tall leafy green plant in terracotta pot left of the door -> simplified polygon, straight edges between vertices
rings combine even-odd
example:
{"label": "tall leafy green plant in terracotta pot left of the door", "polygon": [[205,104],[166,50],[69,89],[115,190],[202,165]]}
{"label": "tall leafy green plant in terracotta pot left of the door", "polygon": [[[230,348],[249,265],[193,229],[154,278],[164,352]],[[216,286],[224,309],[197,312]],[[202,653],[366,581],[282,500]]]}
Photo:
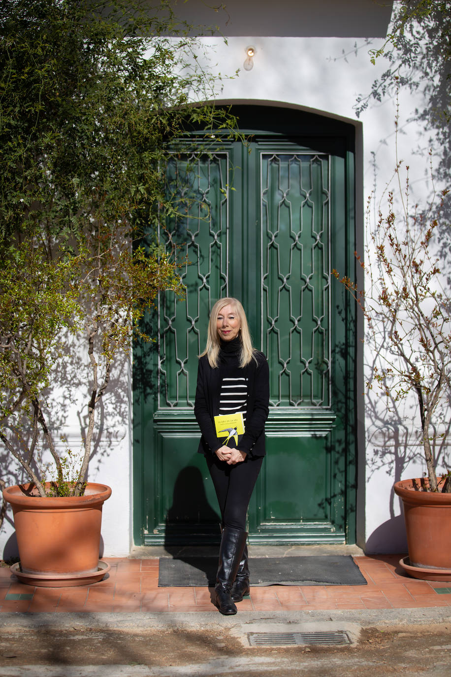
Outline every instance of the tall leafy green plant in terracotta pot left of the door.
{"label": "tall leafy green plant in terracotta pot left of the door", "polygon": [[[176,211],[166,148],[191,122],[231,121],[188,103],[193,91],[211,97],[212,79],[185,68],[195,43],[165,0],[11,0],[0,22],[0,439],[28,477],[3,491],[18,536],[13,571],[34,585],[79,585],[106,571],[111,489],[87,482],[99,403],[133,332],[151,340],[138,326],[158,292],[183,294],[176,253],[156,238]],[[62,400],[80,387],[74,466],[55,437]]]}

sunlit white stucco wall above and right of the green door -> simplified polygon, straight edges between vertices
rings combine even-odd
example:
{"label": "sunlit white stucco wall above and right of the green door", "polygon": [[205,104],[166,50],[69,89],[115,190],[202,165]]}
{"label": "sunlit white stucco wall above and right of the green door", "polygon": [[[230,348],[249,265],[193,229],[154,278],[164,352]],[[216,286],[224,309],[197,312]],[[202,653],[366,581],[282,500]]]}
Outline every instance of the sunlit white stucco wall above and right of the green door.
{"label": "sunlit white stucco wall above and right of the green door", "polygon": [[[373,39],[369,44],[362,38],[247,36],[229,37],[227,42],[225,45],[219,39],[204,39],[211,45],[211,58],[221,73],[240,69],[234,79],[224,79],[220,93],[224,100],[285,102],[349,121],[359,119],[363,148],[357,152],[362,153],[363,194],[358,198],[362,205],[366,204],[374,191],[374,204],[379,204],[396,167],[396,101],[375,102],[360,118],[356,118],[354,104],[357,95],[368,92],[373,80],[386,68],[383,60],[373,66],[369,57],[369,49],[379,47],[383,41]],[[256,50],[254,66],[244,70],[245,49],[250,45]],[[421,200],[430,190],[428,149],[421,127],[408,122],[420,102],[401,91],[399,103],[398,159],[410,166],[412,198]],[[419,150],[425,154],[419,154]],[[358,216],[358,224],[363,235],[363,213]],[[371,345],[365,345],[364,380],[371,376],[372,362]],[[365,437],[360,440],[359,450],[358,544],[367,552],[403,552],[404,522],[392,487],[395,479],[418,477],[425,469],[414,433],[419,427],[416,401],[405,403],[404,416],[397,422],[396,416],[384,411],[385,404],[375,391],[368,397],[372,399],[362,402]]]}

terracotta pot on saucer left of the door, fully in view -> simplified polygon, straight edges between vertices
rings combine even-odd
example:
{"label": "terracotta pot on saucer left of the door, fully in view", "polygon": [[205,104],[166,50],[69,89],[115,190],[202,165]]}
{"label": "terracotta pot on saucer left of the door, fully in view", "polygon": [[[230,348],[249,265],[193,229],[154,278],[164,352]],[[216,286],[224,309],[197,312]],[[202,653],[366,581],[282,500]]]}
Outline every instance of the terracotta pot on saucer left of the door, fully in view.
{"label": "terracotta pot on saucer left of the door, fully in view", "polygon": [[99,563],[101,513],[110,487],[88,483],[84,496],[41,498],[33,484],[3,491],[11,504],[20,565],[11,570],[37,586],[86,585],[100,580],[108,565]]}

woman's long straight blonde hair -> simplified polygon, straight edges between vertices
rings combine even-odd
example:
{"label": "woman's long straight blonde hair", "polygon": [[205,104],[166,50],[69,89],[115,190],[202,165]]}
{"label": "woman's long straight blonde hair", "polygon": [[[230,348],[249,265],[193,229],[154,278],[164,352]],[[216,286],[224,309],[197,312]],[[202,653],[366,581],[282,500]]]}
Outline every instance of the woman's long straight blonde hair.
{"label": "woman's long straight blonde hair", "polygon": [[239,341],[241,343],[239,366],[241,368],[245,367],[247,364],[250,363],[253,357],[257,362],[256,358],[257,351],[252,347],[251,334],[249,331],[249,326],[247,325],[246,313],[244,312],[244,308],[238,301],[238,299],[226,297],[225,299],[219,299],[219,301],[216,301],[216,303],[212,307],[212,310],[210,312],[210,321],[208,322],[206,349],[204,350],[203,353],[199,355],[199,357],[207,355],[210,367],[212,367],[213,369],[219,366],[218,357],[220,351],[220,339],[218,336],[218,330],[216,328],[216,321],[218,320],[220,310],[222,310],[222,308],[224,308],[224,306],[226,305],[231,305],[233,311],[235,311],[235,313],[238,316],[239,324],[241,326],[238,334]]}

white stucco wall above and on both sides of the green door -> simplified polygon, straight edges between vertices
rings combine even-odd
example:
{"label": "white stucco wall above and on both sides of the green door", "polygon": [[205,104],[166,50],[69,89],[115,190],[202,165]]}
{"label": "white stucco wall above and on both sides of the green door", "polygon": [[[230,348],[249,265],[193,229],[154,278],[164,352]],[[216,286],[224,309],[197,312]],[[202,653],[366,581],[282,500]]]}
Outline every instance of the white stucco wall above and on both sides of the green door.
{"label": "white stucco wall above and on both sides of the green door", "polygon": [[[385,64],[373,66],[369,59],[369,45],[362,38],[335,37],[230,37],[228,44],[222,39],[203,39],[216,70],[224,75],[239,74],[222,81],[219,98],[246,102],[280,102],[302,106],[333,116],[356,121],[354,103],[359,93],[369,91],[371,82]],[[245,48],[256,49],[254,67],[244,70]],[[373,41],[371,47],[381,45]],[[421,129],[408,118],[417,102],[410,95],[400,95],[400,148],[399,156],[410,165],[410,179],[414,192],[421,196],[428,190],[425,180],[426,163],[415,154],[421,144]],[[394,147],[395,102],[385,100],[370,106],[360,121],[363,125],[363,194],[362,204],[375,190],[377,198],[391,178],[396,165]],[[377,200],[376,200],[377,201]],[[364,227],[360,214],[360,227]],[[370,347],[364,349],[364,364],[371,364]],[[116,374],[114,387],[105,401],[110,415],[105,418],[105,441],[91,463],[90,479],[113,487],[113,495],[103,508],[103,552],[105,556],[126,556],[131,544],[131,389],[128,365]],[[369,370],[366,367],[366,376]],[[373,395],[375,397],[375,395]],[[120,403],[120,406],[117,406]],[[369,401],[371,403],[371,401]],[[400,506],[392,493],[394,479],[400,476],[421,475],[419,460],[410,461],[417,450],[411,437],[412,403],[406,404],[402,424],[387,424],[375,420],[371,407],[364,414],[365,438],[359,452],[358,487],[358,542],[368,552],[400,552],[406,550],[404,525]],[[79,435],[78,414],[72,414],[73,424],[68,436]],[[401,441],[396,446],[396,431]],[[404,436],[404,437],[403,437]],[[404,446],[403,446],[404,445]],[[381,454],[381,449],[385,451]],[[406,458],[404,459],[404,452]],[[8,479],[9,478],[5,478]],[[14,552],[11,518],[8,514],[0,534],[0,553]]]}

